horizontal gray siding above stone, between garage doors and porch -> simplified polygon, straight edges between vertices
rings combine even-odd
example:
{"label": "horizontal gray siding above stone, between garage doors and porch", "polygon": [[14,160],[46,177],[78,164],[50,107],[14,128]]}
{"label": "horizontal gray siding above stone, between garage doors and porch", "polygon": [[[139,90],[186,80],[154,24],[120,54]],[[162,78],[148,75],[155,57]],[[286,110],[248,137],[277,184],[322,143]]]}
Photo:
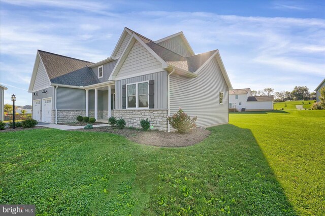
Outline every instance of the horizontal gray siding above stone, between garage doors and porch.
{"label": "horizontal gray siding above stone, between garage doors and porch", "polygon": [[86,91],[84,89],[58,87],[56,107],[57,110],[85,110]]}

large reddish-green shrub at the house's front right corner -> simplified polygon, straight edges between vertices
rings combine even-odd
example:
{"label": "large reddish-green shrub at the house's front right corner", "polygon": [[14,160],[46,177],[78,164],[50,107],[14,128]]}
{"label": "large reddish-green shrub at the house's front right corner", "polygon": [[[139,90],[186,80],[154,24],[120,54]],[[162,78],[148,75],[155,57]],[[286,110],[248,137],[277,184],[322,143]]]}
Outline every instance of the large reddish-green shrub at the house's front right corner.
{"label": "large reddish-green shrub at the house's front right corner", "polygon": [[172,117],[167,117],[167,120],[179,133],[186,133],[197,126],[195,124],[197,118],[198,117],[193,117],[191,119],[184,111],[179,109]]}

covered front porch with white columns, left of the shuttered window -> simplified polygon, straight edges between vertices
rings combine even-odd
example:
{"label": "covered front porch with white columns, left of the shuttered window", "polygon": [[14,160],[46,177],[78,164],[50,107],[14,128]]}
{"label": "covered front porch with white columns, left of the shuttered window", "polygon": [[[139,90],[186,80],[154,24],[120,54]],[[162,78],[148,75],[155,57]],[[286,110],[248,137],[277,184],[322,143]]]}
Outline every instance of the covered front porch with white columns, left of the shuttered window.
{"label": "covered front porch with white columns, left of the shuttered window", "polygon": [[115,84],[86,89],[86,116],[107,123],[114,115]]}

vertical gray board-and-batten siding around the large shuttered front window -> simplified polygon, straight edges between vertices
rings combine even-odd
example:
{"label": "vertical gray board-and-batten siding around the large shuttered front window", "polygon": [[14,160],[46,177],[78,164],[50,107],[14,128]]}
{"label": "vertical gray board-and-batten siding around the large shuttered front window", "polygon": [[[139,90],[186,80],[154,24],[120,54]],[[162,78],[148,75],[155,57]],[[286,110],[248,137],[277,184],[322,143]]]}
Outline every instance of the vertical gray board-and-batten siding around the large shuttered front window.
{"label": "vertical gray board-and-batten siding around the large shuttered front window", "polygon": [[116,109],[122,109],[122,85],[154,80],[154,109],[167,109],[166,70],[115,82]]}

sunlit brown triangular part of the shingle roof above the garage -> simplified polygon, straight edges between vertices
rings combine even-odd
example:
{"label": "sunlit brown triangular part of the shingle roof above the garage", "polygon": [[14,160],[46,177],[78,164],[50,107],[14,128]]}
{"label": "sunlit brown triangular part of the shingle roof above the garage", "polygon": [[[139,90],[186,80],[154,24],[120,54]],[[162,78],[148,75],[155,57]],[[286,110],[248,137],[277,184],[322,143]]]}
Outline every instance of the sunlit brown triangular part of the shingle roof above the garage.
{"label": "sunlit brown triangular part of the shingle roof above the garage", "polygon": [[92,62],[38,50],[50,80],[87,67]]}

